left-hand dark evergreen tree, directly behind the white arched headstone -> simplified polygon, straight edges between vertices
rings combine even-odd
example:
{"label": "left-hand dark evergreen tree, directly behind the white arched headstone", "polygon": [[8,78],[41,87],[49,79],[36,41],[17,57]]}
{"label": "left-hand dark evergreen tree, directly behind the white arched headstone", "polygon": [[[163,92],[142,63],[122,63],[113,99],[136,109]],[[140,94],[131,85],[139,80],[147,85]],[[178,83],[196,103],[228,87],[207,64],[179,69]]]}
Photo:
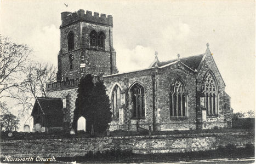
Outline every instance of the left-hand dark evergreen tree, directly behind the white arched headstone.
{"label": "left-hand dark evergreen tree, directly behind the white arched headstone", "polygon": [[92,125],[93,115],[93,97],[94,97],[94,84],[91,74],[80,79],[77,89],[76,108],[73,116],[73,128],[77,130],[77,120],[80,116],[86,119],[86,131],[89,132]]}

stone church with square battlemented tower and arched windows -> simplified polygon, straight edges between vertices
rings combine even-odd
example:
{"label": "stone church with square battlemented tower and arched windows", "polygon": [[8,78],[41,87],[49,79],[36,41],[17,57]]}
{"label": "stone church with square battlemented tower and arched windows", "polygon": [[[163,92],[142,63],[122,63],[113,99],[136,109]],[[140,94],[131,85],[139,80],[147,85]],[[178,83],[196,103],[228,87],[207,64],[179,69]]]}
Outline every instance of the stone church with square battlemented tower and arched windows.
{"label": "stone church with square battlemented tower and arched windows", "polygon": [[33,109],[37,113],[33,117],[39,120],[34,125],[64,128],[77,121],[73,120],[73,111],[79,78],[92,74],[94,80],[103,80],[110,98],[110,131],[149,126],[153,131],[231,127],[230,97],[208,43],[202,54],[178,54],[169,61],[159,61],[155,52],[148,68],[118,73],[112,33],[111,15],[82,9],[61,13],[57,81],[47,84],[47,97],[39,99],[44,103],[62,101],[59,106],[43,109],[54,110],[62,125],[42,122],[47,119],[40,119],[43,110],[39,106]]}

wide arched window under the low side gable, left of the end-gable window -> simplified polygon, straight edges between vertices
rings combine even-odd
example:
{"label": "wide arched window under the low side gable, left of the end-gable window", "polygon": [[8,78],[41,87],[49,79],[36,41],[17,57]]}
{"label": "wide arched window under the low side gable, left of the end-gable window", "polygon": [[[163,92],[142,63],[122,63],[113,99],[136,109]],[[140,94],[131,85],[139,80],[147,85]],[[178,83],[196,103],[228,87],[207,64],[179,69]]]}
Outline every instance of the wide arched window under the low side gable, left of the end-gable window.
{"label": "wide arched window under the low side gable, left of the end-gable window", "polygon": [[176,79],[170,86],[169,93],[170,117],[184,117],[187,115],[187,92],[184,84]]}

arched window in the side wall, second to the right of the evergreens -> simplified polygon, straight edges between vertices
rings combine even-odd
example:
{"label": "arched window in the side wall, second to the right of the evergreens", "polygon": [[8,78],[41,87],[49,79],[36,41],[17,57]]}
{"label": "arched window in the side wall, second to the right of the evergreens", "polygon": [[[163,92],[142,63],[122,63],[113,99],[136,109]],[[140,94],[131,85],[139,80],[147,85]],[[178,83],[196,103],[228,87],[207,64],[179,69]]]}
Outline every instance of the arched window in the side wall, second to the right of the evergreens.
{"label": "arched window in the side wall, second to the right of the evergreens", "polygon": [[133,107],[133,118],[145,118],[145,91],[144,87],[136,83],[130,89]]}

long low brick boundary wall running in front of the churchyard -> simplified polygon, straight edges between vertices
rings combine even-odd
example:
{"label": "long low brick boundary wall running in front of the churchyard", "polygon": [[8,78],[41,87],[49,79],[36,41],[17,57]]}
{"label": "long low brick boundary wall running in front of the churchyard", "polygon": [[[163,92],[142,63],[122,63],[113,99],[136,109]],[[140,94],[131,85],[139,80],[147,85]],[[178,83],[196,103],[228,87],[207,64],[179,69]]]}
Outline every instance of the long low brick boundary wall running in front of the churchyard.
{"label": "long low brick boundary wall running in front of the churchyard", "polygon": [[89,151],[132,150],[136,154],[181,153],[214,150],[227,144],[236,147],[254,145],[254,132],[172,134],[102,138],[66,138],[2,140],[0,157],[69,157],[83,156]]}

